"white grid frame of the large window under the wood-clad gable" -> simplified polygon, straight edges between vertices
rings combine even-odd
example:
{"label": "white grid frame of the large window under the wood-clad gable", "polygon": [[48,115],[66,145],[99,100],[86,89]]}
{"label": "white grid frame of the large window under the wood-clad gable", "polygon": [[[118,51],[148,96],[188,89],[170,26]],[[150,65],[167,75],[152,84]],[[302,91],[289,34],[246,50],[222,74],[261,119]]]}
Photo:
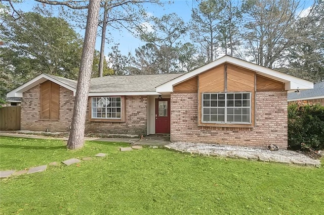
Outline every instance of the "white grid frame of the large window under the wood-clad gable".
{"label": "white grid frame of the large window under the wood-clad gable", "polygon": [[[243,98],[243,93],[248,94],[247,98]],[[228,98],[228,95],[233,94],[233,98]],[[240,98],[239,97],[240,94]],[[204,98],[206,95],[206,98]],[[209,98],[207,98],[209,95]],[[213,95],[213,98],[212,98]],[[224,95],[224,99],[219,99],[219,95]],[[235,95],[237,95],[237,99],[235,99]],[[252,124],[252,105],[251,105],[251,92],[215,92],[215,93],[201,93],[201,123],[209,123],[209,124]],[[206,101],[206,104],[204,104]],[[209,101],[209,102],[207,102]],[[233,103],[231,103],[231,101]],[[236,101],[236,104],[235,104]],[[213,102],[213,104],[212,104]],[[215,102],[217,102],[217,106],[215,106]],[[221,103],[219,103],[221,102]],[[209,106],[207,105],[209,103]],[[223,105],[224,106],[219,106]],[[240,103],[240,106],[238,104]],[[237,105],[237,106],[236,106]],[[213,113],[212,113],[213,109]],[[245,110],[245,111],[244,111]],[[219,111],[221,114],[218,114]],[[209,113],[208,113],[209,112]],[[236,113],[235,113],[236,112]],[[240,113],[239,113],[240,112]],[[223,114],[224,113],[224,114]],[[204,118],[206,116],[206,118]],[[209,116],[209,120],[206,120]],[[212,120],[212,116],[214,120]],[[219,117],[220,116],[220,117]],[[231,118],[231,116],[233,118]],[[241,121],[235,121],[241,118]],[[242,118],[244,116],[249,116],[249,122],[242,122]],[[215,120],[217,118],[217,120]],[[218,119],[224,120],[218,120]],[[232,121],[230,121],[232,119]]]}

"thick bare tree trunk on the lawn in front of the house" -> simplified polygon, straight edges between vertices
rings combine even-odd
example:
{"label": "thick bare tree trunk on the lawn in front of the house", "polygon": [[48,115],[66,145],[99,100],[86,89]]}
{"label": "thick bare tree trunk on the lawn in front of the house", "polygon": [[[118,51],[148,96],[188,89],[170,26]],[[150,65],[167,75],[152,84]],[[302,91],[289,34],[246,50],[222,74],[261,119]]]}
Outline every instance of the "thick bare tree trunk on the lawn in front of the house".
{"label": "thick bare tree trunk on the lawn in front of the house", "polygon": [[86,110],[98,28],[100,1],[90,0],[82,58],[77,80],[74,110],[67,148],[82,148],[85,138]]}

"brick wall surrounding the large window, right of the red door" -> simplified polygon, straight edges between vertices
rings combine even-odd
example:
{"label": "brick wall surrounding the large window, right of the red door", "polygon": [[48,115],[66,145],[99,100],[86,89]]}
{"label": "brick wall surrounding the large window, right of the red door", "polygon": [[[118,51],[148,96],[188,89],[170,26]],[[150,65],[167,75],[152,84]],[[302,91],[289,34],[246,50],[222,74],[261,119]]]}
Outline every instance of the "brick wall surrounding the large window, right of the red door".
{"label": "brick wall surrounding the large window, right of the red door", "polygon": [[171,94],[171,141],[287,148],[287,92],[256,92],[254,128],[197,126],[197,93]]}

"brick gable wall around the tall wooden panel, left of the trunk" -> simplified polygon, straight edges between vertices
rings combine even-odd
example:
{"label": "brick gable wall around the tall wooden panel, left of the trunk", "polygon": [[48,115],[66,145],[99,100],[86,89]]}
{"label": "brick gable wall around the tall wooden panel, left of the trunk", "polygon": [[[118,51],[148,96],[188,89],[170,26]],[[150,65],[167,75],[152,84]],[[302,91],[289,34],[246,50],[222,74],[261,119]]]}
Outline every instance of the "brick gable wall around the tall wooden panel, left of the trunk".
{"label": "brick gable wall around the tall wooden panel, left of the trunk", "polygon": [[34,86],[23,93],[21,101],[21,130],[30,131],[69,131],[73,115],[74,96],[73,92],[60,86],[59,120],[40,119],[39,100],[40,85]]}

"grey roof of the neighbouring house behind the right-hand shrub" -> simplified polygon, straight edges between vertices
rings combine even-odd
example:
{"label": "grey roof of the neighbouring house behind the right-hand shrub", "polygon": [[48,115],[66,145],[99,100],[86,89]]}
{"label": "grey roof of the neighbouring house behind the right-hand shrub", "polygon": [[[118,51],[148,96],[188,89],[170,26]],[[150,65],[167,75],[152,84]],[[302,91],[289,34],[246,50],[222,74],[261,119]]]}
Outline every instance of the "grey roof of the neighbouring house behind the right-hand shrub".
{"label": "grey roof of the neighbouring house behind the right-hand shrub", "polygon": [[300,93],[289,92],[288,101],[324,98],[324,81],[314,84],[313,89],[300,90]]}

